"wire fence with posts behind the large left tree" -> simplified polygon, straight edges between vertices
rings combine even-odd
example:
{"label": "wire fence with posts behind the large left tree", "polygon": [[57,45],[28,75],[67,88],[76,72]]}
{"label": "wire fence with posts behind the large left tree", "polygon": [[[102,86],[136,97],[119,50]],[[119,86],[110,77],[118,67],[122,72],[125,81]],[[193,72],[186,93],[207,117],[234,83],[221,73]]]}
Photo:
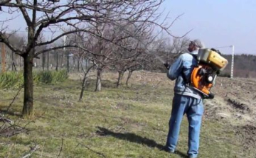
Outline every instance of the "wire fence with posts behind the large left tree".
{"label": "wire fence with posts behind the large left tree", "polygon": [[[0,69],[1,72],[8,71],[23,71],[23,57],[16,55],[14,52],[0,47]],[[90,61],[82,59],[79,61],[78,57],[69,52],[51,51],[46,52],[33,60],[33,69],[36,71],[43,70],[60,70],[67,69],[68,72],[81,72],[82,67],[89,67]]]}

